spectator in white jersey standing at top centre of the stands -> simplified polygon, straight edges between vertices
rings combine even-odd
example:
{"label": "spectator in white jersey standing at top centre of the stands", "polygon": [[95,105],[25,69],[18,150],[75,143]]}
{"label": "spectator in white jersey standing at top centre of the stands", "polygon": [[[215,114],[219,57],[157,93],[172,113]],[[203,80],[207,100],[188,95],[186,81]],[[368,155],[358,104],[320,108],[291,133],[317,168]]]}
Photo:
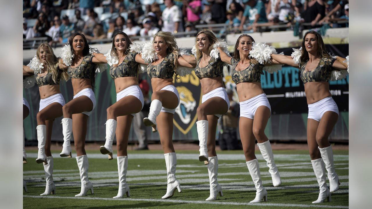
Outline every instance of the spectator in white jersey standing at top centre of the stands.
{"label": "spectator in white jersey standing at top centre of the stands", "polygon": [[166,8],[163,10],[162,20],[165,32],[177,33],[183,31],[181,10],[174,4],[173,0],[164,0]]}

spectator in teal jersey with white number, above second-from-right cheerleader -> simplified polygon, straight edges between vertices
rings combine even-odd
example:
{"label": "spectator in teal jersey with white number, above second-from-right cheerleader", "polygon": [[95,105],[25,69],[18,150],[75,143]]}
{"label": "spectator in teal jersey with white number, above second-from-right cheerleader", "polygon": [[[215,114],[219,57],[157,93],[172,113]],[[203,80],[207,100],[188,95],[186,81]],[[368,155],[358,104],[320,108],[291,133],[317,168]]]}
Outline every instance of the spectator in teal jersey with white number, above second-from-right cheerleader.
{"label": "spectator in teal jersey with white number, above second-from-right cheerleader", "polygon": [[241,18],[240,30],[243,31],[246,20],[248,20],[249,26],[244,30],[254,29],[255,23],[267,23],[265,6],[261,0],[243,0],[243,3],[246,3],[246,9]]}

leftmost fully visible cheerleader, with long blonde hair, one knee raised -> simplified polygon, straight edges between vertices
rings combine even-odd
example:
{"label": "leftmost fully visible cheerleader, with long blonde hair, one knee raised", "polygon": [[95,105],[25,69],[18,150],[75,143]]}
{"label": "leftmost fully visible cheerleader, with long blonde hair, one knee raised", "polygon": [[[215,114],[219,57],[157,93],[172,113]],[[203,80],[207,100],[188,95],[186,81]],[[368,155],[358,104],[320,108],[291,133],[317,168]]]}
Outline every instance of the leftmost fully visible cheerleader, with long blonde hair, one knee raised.
{"label": "leftmost fully visible cheerleader, with long blonde hair, one knee raised", "polygon": [[[62,66],[62,65],[61,65]],[[60,80],[67,80],[66,72],[63,72],[54,55],[52,47],[47,44],[40,44],[36,50],[36,56],[30,64],[23,65],[23,75],[36,74],[36,84],[39,86],[40,105],[36,115],[38,126],[38,158],[36,163],[44,163],[45,180],[47,181],[45,192],[40,194],[55,194],[53,182],[53,157],[50,151],[52,128],[54,119],[62,116],[62,107],[65,100],[60,91]]]}

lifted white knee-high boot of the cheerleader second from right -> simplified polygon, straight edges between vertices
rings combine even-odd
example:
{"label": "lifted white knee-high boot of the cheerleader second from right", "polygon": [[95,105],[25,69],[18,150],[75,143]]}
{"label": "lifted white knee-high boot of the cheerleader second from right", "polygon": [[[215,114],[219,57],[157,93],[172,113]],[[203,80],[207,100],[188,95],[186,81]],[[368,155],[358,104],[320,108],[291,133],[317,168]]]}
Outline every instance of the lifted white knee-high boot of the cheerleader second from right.
{"label": "lifted white knee-high boot of the cheerleader second from right", "polygon": [[274,155],[273,150],[271,149],[270,141],[267,140],[263,143],[257,143],[257,146],[260,148],[262,157],[266,160],[266,164],[269,167],[269,173],[271,174],[271,178],[273,180],[273,186],[279,186],[282,184],[282,180],[280,179],[278,168],[274,162]]}

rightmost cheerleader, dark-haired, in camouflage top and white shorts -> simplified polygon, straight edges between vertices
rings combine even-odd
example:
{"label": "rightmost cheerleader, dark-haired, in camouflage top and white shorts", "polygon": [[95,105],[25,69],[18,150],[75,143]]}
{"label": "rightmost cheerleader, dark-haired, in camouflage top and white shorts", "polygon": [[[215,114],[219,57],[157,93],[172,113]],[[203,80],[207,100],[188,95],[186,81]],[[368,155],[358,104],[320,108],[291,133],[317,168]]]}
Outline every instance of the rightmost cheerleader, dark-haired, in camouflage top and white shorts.
{"label": "rightmost cheerleader, dark-haired, in camouflage top and white shorts", "polygon": [[[326,51],[321,35],[308,31],[301,48],[295,49],[293,58],[272,54],[273,60],[300,69],[309,108],[307,119],[307,143],[311,164],[319,184],[318,199],[312,203],[331,200],[331,192],[339,190],[339,177],[334,170],[333,151],[328,137],[339,118],[339,109],[332,99],[329,80],[342,79],[348,71],[346,59],[332,58]],[[325,179],[324,165],[328,172],[330,189]]]}

